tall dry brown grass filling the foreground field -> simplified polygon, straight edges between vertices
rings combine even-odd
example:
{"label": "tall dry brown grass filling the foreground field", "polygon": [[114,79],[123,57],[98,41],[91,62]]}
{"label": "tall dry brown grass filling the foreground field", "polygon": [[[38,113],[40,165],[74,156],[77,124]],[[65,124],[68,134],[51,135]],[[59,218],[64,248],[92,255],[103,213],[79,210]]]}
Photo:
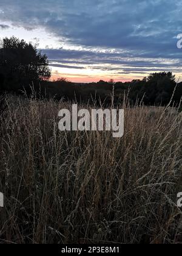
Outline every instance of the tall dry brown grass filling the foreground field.
{"label": "tall dry brown grass filling the foreground field", "polygon": [[60,132],[58,111],[71,109],[69,102],[8,96],[7,105],[0,243],[182,241],[182,114],[175,108],[119,106],[125,132],[115,139]]}

